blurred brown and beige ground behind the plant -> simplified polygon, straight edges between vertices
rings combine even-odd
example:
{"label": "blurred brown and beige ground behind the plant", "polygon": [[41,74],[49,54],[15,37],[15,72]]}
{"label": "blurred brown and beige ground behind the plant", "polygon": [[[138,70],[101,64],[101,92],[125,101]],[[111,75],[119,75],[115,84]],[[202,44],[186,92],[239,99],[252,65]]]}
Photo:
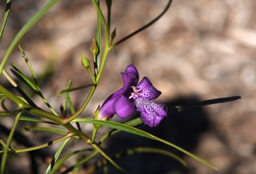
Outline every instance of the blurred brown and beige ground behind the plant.
{"label": "blurred brown and beige ground behind the plant", "polygon": [[[1,41],[1,57],[19,29],[46,2],[13,1]],[[111,30],[117,28],[115,41],[151,21],[161,13],[166,3],[163,0],[113,1]],[[101,4],[105,9],[105,2]],[[3,18],[5,1],[0,5]],[[90,47],[95,29],[96,11],[91,1],[63,0],[20,42],[40,79],[43,94],[58,111],[64,104],[64,96],[57,96],[57,92],[66,87],[70,79],[73,86],[91,82],[86,69],[81,66],[80,55],[82,53],[93,62]],[[170,114],[155,128],[139,126],[216,165],[220,171],[214,171],[177,151],[175,153],[187,162],[187,169],[169,161],[169,158],[151,154],[131,156],[117,163],[130,173],[256,173],[255,29],[256,2],[253,0],[174,0],[169,11],[157,23],[111,51],[95,95],[81,116],[91,118],[97,106],[122,86],[120,72],[130,64],[137,67],[140,78],[149,77],[162,92],[156,101],[169,106],[240,95],[242,99],[238,101]],[[21,56],[21,52],[15,49],[9,63],[29,75]],[[7,65],[7,71],[9,68]],[[10,86],[3,77],[1,84]],[[85,100],[87,93],[87,89],[71,93],[76,108]],[[33,101],[44,107],[38,97]],[[4,126],[0,127],[2,139],[6,139],[8,130],[4,129],[11,127],[13,119],[0,118],[0,124]],[[125,122],[127,119],[115,117],[114,121]],[[83,126],[85,131],[92,130],[90,125]],[[107,129],[101,131],[104,133],[104,130]],[[38,133],[37,137],[33,133],[24,134],[36,144],[49,139],[47,134]],[[83,145],[77,141],[75,148]],[[105,143],[109,153],[129,145],[168,148],[128,133],[120,133]],[[55,148],[57,146],[45,151],[52,155]],[[13,171],[33,173],[29,168],[28,155],[13,156],[17,161],[12,163],[15,164],[11,167]],[[21,161],[22,158],[24,160]],[[43,171],[46,166],[40,164],[39,167]]]}

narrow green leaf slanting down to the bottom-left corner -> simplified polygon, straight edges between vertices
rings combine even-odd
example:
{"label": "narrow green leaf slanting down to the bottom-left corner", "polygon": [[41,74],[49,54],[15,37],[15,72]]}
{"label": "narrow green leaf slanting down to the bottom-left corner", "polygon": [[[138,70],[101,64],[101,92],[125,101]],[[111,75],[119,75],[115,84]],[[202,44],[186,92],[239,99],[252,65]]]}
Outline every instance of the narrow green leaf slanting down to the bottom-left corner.
{"label": "narrow green leaf slanting down to the bottom-left corner", "polygon": [[18,123],[19,123],[19,117],[21,117],[21,110],[19,111],[19,113],[15,117],[13,127],[11,127],[11,132],[10,132],[10,134],[8,136],[8,139],[7,139],[5,150],[3,151],[3,157],[2,157],[2,161],[1,161],[1,173],[4,173],[4,171],[5,171],[5,164],[6,164],[6,161],[7,161],[7,153],[8,153],[9,147],[11,145],[11,140],[13,139],[15,129],[16,129]]}

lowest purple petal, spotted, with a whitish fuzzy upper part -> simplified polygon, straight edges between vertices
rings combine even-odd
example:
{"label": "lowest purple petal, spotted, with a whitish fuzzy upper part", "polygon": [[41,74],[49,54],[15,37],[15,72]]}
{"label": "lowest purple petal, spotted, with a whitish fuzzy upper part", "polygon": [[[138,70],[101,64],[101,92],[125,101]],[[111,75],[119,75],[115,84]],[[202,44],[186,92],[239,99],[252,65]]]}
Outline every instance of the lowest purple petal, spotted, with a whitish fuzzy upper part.
{"label": "lowest purple petal, spotted, with a whitish fuzzy upper part", "polygon": [[135,105],[137,111],[141,113],[142,121],[149,127],[156,127],[163,117],[167,117],[167,105],[164,103],[138,98],[135,100]]}

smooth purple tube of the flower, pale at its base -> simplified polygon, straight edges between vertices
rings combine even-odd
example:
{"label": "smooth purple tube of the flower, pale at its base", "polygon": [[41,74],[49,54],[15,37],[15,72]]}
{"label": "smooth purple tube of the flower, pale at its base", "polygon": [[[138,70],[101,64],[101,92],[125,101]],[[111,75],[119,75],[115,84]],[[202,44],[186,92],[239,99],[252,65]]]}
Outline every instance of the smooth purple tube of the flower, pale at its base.
{"label": "smooth purple tube of the flower, pale at its base", "polygon": [[121,97],[122,92],[123,88],[119,89],[118,91],[107,97],[107,99],[104,101],[104,103],[101,105],[101,108],[99,109],[99,119],[103,119],[104,117],[110,117],[115,114],[115,111],[113,109],[113,103],[117,98]]}

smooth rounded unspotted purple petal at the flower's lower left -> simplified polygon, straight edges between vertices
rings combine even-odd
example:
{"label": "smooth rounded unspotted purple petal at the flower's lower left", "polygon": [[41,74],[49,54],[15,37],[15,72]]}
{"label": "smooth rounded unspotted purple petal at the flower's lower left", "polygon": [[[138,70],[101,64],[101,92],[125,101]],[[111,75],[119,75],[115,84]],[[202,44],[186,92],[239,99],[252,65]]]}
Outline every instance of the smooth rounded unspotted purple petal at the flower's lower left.
{"label": "smooth rounded unspotted purple petal at the flower's lower left", "polygon": [[113,109],[118,117],[125,119],[135,111],[135,105],[125,96],[121,96],[113,103]]}

